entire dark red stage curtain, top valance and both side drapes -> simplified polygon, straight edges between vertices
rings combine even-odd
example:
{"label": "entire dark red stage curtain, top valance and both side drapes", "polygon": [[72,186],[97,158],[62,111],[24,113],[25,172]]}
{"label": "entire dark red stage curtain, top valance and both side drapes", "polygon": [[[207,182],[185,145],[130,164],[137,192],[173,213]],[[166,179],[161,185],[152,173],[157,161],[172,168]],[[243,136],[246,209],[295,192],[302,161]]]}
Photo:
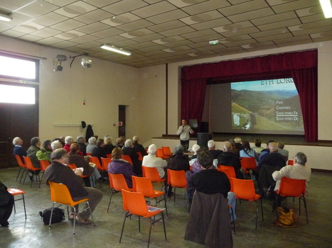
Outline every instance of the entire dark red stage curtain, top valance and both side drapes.
{"label": "entire dark red stage curtain, top valance and both side drapes", "polygon": [[[306,141],[316,142],[318,140],[317,64],[318,52],[310,50],[183,67],[181,116],[186,120],[197,118],[200,123],[205,96],[203,87],[205,89],[207,81],[221,83],[277,77],[282,74],[291,75],[299,91]],[[193,109],[193,103],[199,108]]]}

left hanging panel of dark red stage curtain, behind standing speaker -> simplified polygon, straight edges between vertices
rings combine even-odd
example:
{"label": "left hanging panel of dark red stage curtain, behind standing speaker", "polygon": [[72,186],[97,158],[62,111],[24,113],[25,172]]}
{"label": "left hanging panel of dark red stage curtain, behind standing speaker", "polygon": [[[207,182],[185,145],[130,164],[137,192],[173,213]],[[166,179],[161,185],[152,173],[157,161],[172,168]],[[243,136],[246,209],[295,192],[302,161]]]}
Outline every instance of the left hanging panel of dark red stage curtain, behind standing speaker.
{"label": "left hanging panel of dark red stage curtain, behind standing speaker", "polygon": [[181,118],[202,120],[206,79],[183,81],[181,85]]}

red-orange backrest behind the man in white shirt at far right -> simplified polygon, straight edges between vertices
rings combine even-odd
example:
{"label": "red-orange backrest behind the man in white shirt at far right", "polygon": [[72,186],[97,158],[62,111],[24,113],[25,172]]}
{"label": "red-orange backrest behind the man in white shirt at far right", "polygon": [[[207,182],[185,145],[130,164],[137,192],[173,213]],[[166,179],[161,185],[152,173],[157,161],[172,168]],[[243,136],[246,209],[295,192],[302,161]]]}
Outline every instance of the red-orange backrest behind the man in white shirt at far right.
{"label": "red-orange backrest behind the man in white shirt at far right", "polygon": [[306,193],[305,179],[290,179],[283,177],[280,182],[279,194],[282,196],[301,197]]}

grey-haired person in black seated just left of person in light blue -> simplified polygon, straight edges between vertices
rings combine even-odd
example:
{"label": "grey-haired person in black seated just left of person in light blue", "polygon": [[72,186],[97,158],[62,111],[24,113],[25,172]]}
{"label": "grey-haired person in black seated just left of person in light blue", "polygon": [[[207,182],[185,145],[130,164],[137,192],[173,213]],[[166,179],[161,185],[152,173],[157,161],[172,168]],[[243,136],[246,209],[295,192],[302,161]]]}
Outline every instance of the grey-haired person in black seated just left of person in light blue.
{"label": "grey-haired person in black seated just left of person in light blue", "polygon": [[228,141],[224,142],[224,152],[220,153],[220,155],[218,156],[218,164],[225,165],[228,167],[233,167],[235,170],[236,178],[244,179],[243,174],[240,171],[241,169],[240,157],[232,152],[232,145]]}

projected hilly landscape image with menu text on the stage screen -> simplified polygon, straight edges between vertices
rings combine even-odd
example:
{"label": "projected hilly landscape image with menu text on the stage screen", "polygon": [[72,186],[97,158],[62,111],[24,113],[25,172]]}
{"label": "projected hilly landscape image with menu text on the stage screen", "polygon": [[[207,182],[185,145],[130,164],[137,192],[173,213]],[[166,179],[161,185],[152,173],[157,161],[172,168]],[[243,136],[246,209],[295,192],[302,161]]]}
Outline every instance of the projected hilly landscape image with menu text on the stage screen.
{"label": "projected hilly landscape image with menu text on the stage screen", "polygon": [[233,130],[304,132],[293,79],[232,83],[231,94]]}

